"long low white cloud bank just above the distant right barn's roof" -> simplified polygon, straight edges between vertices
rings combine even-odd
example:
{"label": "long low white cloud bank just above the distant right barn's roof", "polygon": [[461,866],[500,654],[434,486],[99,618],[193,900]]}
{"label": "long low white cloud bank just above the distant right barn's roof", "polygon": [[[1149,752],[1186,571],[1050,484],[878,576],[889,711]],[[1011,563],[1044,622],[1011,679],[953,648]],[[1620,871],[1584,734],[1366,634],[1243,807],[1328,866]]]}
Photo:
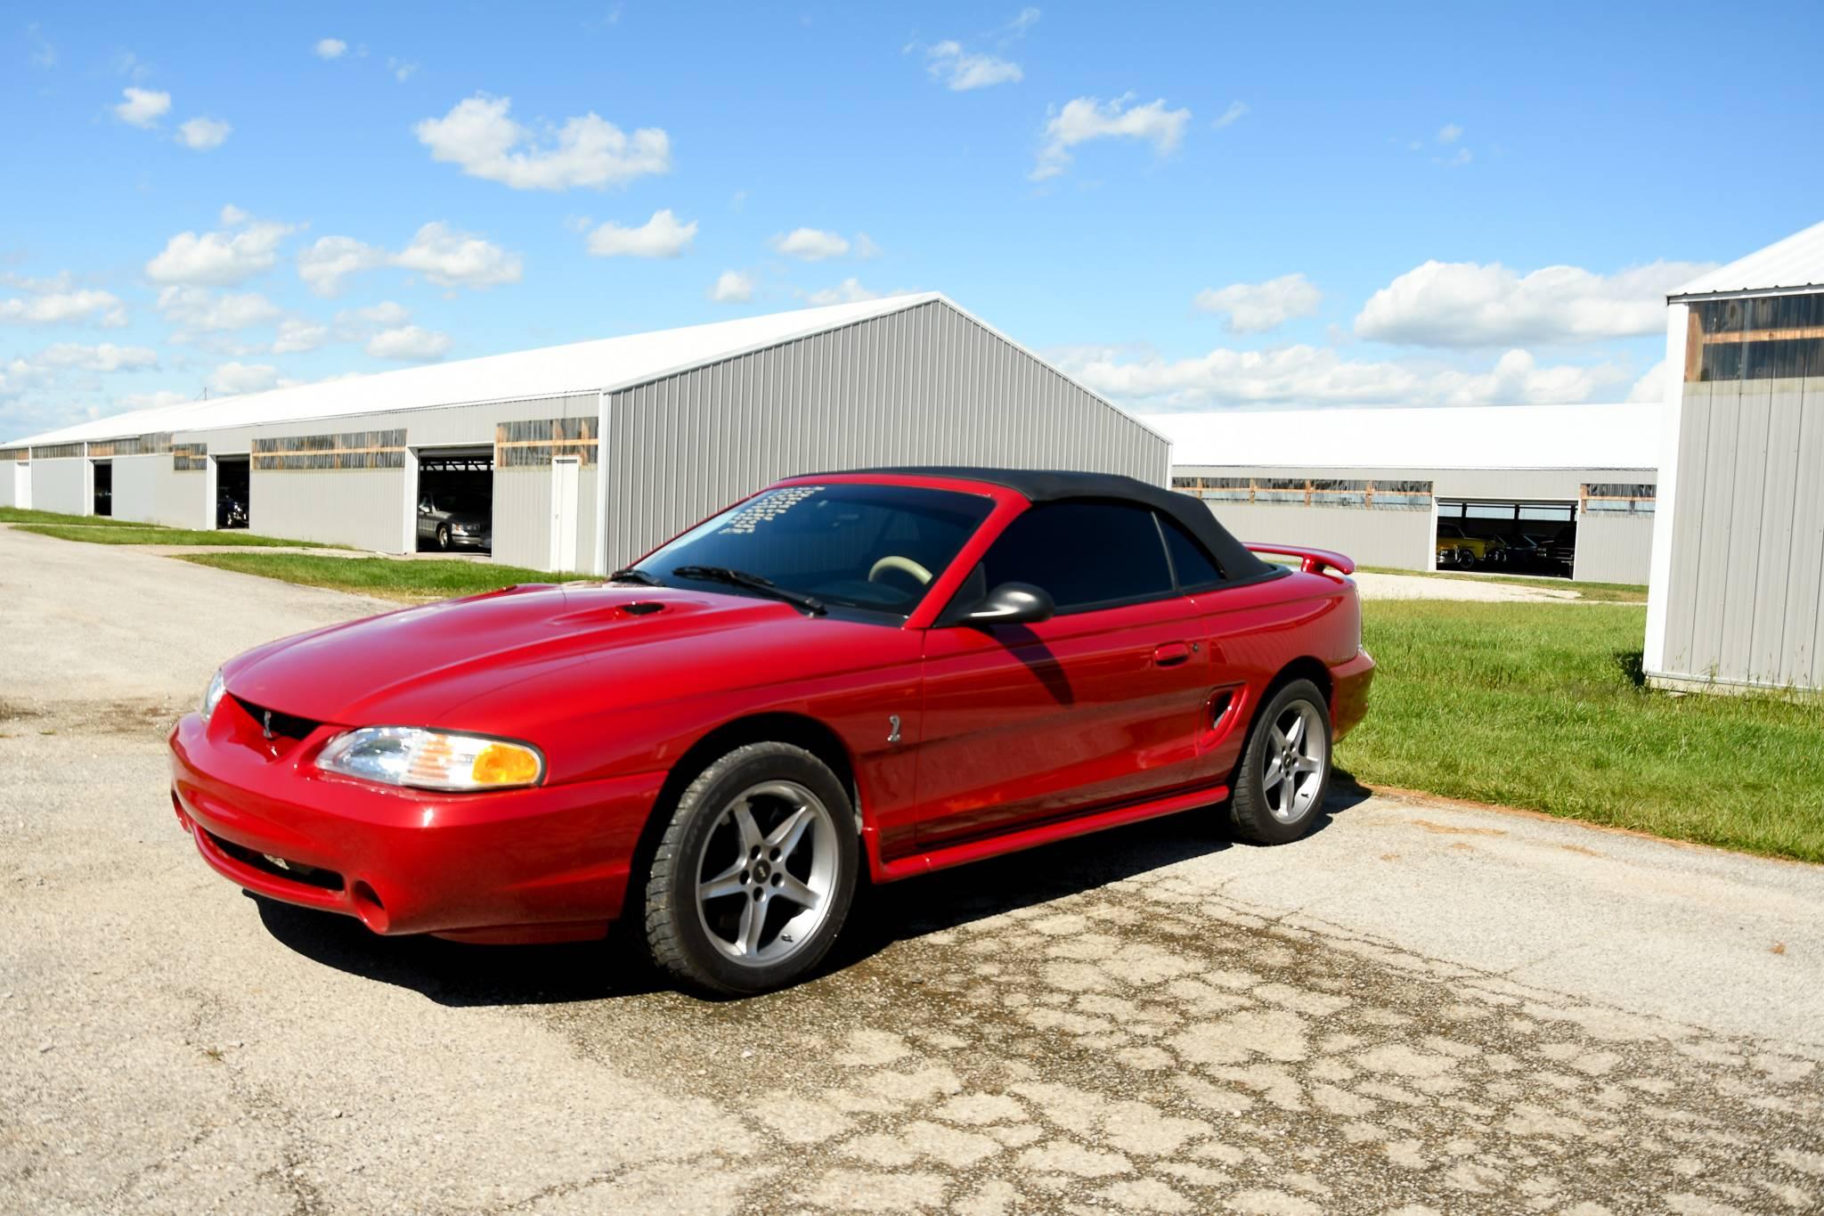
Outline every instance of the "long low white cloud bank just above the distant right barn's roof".
{"label": "long low white cloud bank just above the distant right barn's roof", "polygon": [[1587,401],[1625,379],[1612,365],[1539,366],[1508,350],[1487,372],[1435,363],[1344,359],[1333,348],[1217,348],[1191,359],[1153,350],[1078,346],[1054,352],[1060,366],[1116,401],[1153,408],[1224,405],[1507,405]]}

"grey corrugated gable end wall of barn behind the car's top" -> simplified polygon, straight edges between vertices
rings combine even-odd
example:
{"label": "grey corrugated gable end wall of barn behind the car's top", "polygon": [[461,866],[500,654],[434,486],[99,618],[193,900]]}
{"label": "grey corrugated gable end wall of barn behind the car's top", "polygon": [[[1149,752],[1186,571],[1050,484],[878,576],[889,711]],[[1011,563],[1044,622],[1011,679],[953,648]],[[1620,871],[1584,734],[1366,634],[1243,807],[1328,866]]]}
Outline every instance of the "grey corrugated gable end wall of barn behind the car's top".
{"label": "grey corrugated gable end wall of barn behind the car's top", "polygon": [[1003,465],[1160,483],[1167,443],[932,301],[617,392],[607,560],[797,472]]}

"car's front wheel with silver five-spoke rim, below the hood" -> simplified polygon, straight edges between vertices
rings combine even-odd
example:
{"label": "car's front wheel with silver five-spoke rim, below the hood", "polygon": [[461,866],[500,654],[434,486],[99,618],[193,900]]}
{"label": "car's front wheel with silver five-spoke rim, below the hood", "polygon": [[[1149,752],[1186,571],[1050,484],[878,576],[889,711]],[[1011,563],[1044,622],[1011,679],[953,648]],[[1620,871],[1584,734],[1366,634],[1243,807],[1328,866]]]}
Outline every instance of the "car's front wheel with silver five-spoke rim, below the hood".
{"label": "car's front wheel with silver five-spoke rim, below the hood", "polygon": [[715,994],[770,992],[830,952],[855,893],[843,782],[790,744],[748,744],[679,797],[646,882],[653,961]]}

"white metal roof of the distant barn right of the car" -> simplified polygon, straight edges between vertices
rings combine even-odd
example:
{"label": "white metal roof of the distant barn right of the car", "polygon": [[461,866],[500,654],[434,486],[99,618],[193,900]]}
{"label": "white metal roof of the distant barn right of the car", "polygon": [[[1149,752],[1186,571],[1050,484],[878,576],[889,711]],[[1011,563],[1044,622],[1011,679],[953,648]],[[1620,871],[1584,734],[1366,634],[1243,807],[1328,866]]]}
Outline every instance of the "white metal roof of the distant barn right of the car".
{"label": "white metal roof of the distant barn right of the car", "polygon": [[1144,414],[1171,463],[1295,469],[1656,469],[1658,403]]}

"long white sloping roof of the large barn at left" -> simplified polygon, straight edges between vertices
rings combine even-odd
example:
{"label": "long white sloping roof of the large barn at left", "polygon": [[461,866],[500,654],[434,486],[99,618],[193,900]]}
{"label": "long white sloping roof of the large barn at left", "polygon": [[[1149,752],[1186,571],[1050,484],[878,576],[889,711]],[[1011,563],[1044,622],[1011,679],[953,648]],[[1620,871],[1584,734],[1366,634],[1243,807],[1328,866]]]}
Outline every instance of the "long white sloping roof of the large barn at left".
{"label": "long white sloping roof of the large barn at left", "polygon": [[[883,317],[905,308],[943,299],[938,292],[890,295],[855,304],[799,308],[762,317],[691,325],[653,334],[627,334],[569,346],[518,350],[458,363],[432,363],[292,385],[268,392],[186,401],[151,410],[111,414],[75,427],[47,430],[15,443],[75,443],[120,439],[159,432],[195,432],[226,427],[257,427],[316,417],[343,417],[412,410],[436,405],[500,401],[507,397],[554,397],[573,392],[598,392],[646,383],[671,372],[702,366],[730,356],[775,346],[784,341],[841,328],[855,321]],[[950,304],[950,301],[945,301]],[[956,304],[950,304],[956,308]],[[958,312],[963,312],[958,308]],[[969,314],[965,314],[969,315]],[[974,317],[972,317],[974,319]],[[987,328],[987,326],[985,326]]]}

